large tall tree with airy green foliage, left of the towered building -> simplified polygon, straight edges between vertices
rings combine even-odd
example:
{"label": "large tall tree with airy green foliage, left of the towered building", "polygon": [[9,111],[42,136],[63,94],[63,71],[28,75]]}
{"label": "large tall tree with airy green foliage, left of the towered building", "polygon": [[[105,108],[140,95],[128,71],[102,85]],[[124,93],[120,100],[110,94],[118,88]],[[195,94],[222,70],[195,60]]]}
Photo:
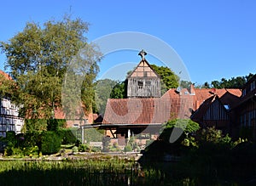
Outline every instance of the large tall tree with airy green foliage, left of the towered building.
{"label": "large tall tree with airy green foliage, left of the towered building", "polygon": [[79,63],[69,71],[74,75],[79,74],[78,70],[83,71],[80,99],[85,110],[90,110],[101,53],[87,42],[87,31],[88,23],[64,16],[62,20],[49,20],[44,25],[26,23],[24,30],[8,42],[0,42],[7,57],[5,66],[16,82],[13,99],[22,105],[22,116],[54,116],[55,107],[61,107],[62,83],[74,56]]}

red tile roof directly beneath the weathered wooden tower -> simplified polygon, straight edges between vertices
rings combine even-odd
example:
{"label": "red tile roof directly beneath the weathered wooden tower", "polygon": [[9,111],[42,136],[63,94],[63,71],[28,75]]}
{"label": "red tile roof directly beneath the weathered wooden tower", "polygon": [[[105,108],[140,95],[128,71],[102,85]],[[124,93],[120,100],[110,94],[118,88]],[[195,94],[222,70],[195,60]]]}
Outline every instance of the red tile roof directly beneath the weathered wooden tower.
{"label": "red tile roof directly beneath the weathered wooden tower", "polygon": [[108,99],[103,124],[150,124],[168,121],[166,99]]}

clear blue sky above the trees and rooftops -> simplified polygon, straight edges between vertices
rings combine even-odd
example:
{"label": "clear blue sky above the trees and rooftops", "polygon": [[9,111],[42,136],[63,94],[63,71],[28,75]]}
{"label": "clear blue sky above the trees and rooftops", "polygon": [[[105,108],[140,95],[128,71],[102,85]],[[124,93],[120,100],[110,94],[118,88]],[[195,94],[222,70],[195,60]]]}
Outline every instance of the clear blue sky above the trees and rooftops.
{"label": "clear blue sky above the trees and rooftops", "polygon": [[[2,1],[0,41],[14,37],[27,21],[60,20],[70,12],[73,18],[90,23],[86,36],[89,42],[119,31],[139,31],[160,38],[183,59],[191,81],[197,84],[256,73],[256,1],[253,0]],[[137,54],[130,54],[109,55],[102,63],[138,63]],[[154,58],[149,59],[149,63],[154,63],[151,61]],[[1,70],[4,60],[1,54]],[[101,70],[102,74],[106,71],[104,65]]]}

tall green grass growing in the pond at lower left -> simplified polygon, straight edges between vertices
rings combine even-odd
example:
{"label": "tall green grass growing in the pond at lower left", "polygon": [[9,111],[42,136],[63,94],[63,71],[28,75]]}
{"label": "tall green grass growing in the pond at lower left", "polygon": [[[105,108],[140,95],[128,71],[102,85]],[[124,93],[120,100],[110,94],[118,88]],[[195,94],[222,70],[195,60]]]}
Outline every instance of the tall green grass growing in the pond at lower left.
{"label": "tall green grass growing in the pond at lower left", "polygon": [[[152,185],[159,171],[143,171],[134,161],[0,161],[1,185]],[[160,184],[159,184],[160,185]]]}

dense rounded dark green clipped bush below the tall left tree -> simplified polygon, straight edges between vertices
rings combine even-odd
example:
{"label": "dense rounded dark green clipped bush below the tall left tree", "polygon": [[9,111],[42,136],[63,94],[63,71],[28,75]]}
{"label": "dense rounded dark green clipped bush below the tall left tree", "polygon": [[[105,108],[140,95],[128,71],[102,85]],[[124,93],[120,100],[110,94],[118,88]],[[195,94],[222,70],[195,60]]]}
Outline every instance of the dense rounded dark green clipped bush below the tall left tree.
{"label": "dense rounded dark green clipped bush below the tall left tree", "polygon": [[57,153],[61,149],[61,138],[55,132],[47,131],[42,135],[42,153],[43,155],[51,155]]}

